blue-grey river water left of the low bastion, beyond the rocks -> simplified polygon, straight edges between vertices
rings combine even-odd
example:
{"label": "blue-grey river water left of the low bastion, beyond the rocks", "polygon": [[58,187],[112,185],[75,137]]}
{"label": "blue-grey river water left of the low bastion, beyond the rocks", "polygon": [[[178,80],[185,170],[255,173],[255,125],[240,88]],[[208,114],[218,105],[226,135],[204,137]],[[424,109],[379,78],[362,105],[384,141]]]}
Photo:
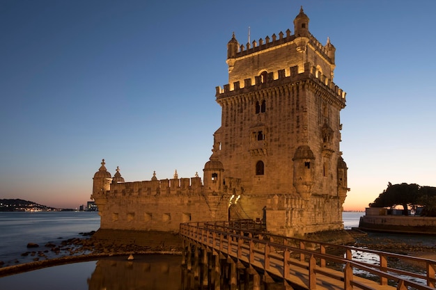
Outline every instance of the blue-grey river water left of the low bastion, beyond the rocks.
{"label": "blue-grey river water left of the low bastion, beyond the rocks", "polygon": [[[46,243],[59,245],[67,239],[83,237],[79,233],[96,231],[100,216],[93,211],[15,211],[0,212],[0,261],[3,266],[33,261],[34,255],[22,256],[29,251],[45,251]],[[37,243],[38,248],[27,248]],[[54,253],[47,252],[48,257]]]}

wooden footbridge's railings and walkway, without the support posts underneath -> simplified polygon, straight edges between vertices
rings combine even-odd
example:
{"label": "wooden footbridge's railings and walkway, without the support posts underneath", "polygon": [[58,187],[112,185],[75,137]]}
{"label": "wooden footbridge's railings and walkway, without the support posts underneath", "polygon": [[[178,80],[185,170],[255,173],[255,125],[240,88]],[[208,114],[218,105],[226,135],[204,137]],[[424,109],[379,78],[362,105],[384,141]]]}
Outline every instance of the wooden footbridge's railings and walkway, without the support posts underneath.
{"label": "wooden footbridge's railings and walkway, without the support posts underneath", "polygon": [[[180,234],[189,241],[203,247],[231,256],[254,268],[280,275],[293,281],[292,272],[299,271],[308,279],[306,289],[316,289],[320,279],[333,278],[343,289],[353,287],[366,290],[435,289],[436,261],[389,252],[367,250],[346,245],[321,243],[294,239],[261,232],[262,225],[252,220],[235,222],[205,222],[180,224]],[[355,255],[353,255],[355,254]],[[357,255],[372,255],[377,261],[359,261]],[[406,261],[425,266],[423,273],[414,273],[392,266],[390,261]],[[336,270],[332,267],[336,266]],[[366,277],[359,277],[355,271],[364,271]],[[369,275],[368,275],[369,274]],[[368,276],[371,276],[368,277]],[[377,280],[377,282],[374,282]],[[325,283],[325,282],[324,282]],[[393,286],[394,285],[394,286]]]}

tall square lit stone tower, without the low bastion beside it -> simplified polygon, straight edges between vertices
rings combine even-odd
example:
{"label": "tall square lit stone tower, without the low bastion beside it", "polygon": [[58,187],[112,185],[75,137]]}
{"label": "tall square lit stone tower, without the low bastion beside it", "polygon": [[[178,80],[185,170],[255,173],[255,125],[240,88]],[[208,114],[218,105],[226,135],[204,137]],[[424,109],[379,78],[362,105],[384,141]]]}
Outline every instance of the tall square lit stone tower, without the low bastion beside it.
{"label": "tall square lit stone tower, without the low bastion beside it", "polygon": [[231,218],[260,218],[287,236],[342,229],[348,191],[335,48],[311,35],[302,8],[294,31],[245,46],[233,34],[228,84],[217,87],[221,127],[211,156],[224,190],[233,180],[243,188],[238,204],[229,202],[237,213]]}

